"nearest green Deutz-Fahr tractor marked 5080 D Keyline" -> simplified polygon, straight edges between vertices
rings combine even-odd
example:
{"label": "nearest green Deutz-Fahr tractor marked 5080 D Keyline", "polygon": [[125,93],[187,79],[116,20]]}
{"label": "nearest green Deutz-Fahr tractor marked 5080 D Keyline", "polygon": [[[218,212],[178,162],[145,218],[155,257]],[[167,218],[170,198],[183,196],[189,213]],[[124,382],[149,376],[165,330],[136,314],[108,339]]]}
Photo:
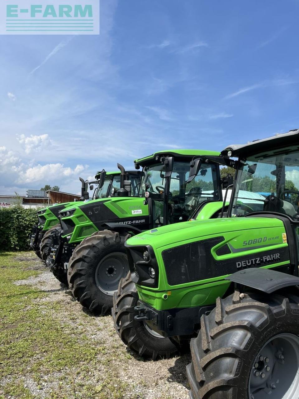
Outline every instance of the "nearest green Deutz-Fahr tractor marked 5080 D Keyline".
{"label": "nearest green Deutz-Fahr tractor marked 5080 D Keyline", "polygon": [[178,346],[191,338],[191,399],[298,399],[299,130],[222,155],[238,158],[225,217],[126,241],[138,304],[120,308],[120,284],[117,326],[130,315]]}

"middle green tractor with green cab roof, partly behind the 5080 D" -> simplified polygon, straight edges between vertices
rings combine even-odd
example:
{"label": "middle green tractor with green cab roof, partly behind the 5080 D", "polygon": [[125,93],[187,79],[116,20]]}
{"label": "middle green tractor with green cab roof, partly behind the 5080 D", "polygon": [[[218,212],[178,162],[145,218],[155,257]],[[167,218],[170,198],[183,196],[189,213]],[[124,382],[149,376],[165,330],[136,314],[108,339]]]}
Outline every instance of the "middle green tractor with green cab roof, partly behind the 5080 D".
{"label": "middle green tractor with green cab roof, partly behind the 5080 D", "polygon": [[[60,211],[61,253],[75,247],[71,259],[68,253],[63,262],[71,291],[83,306],[102,315],[110,311],[113,294],[129,272],[124,242],[132,235],[191,216],[218,217],[222,209],[219,162],[226,164],[226,157],[219,155],[200,150],[155,152],[135,161],[137,169],[142,167],[141,182],[132,190],[138,197],[106,198],[78,204],[69,214]],[[196,167],[199,159],[201,168]],[[186,184],[190,162],[194,179]],[[150,195],[144,199],[146,192]],[[57,253],[58,245],[53,257]]]}

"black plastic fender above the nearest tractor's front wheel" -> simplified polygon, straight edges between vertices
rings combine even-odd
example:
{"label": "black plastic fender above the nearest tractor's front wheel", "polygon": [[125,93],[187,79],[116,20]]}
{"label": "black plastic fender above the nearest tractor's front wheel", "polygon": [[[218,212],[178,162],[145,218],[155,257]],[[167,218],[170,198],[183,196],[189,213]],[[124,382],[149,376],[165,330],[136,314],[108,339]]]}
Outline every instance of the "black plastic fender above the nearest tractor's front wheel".
{"label": "black plastic fender above the nearest tractor's front wheel", "polygon": [[266,292],[266,294],[271,294],[281,288],[299,285],[299,277],[262,268],[241,270],[225,279]]}

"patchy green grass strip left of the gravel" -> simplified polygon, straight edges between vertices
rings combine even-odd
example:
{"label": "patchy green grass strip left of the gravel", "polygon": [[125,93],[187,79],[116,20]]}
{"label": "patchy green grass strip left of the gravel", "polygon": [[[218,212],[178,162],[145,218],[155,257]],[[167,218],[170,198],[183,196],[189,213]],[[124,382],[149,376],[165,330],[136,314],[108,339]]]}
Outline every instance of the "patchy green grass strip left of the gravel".
{"label": "patchy green grass strip left of the gravel", "polygon": [[91,377],[105,350],[77,325],[54,317],[64,311],[63,304],[47,300],[49,293],[36,286],[14,284],[40,274],[24,269],[22,255],[0,254],[0,398],[31,399],[41,393],[51,399],[69,399],[70,394],[75,399],[122,398],[126,384],[113,373],[98,384]]}

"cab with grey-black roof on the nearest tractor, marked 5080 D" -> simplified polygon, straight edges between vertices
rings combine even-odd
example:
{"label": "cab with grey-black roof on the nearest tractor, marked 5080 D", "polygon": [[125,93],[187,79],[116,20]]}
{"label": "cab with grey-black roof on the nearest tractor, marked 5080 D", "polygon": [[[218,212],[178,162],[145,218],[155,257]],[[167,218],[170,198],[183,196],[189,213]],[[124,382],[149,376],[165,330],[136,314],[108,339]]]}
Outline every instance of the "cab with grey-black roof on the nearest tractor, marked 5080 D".
{"label": "cab with grey-black roof on the nearest tractor, marked 5080 D", "polygon": [[298,143],[299,130],[295,130],[245,145],[228,146],[222,151],[223,155],[238,157],[230,217],[270,212],[298,221]]}

